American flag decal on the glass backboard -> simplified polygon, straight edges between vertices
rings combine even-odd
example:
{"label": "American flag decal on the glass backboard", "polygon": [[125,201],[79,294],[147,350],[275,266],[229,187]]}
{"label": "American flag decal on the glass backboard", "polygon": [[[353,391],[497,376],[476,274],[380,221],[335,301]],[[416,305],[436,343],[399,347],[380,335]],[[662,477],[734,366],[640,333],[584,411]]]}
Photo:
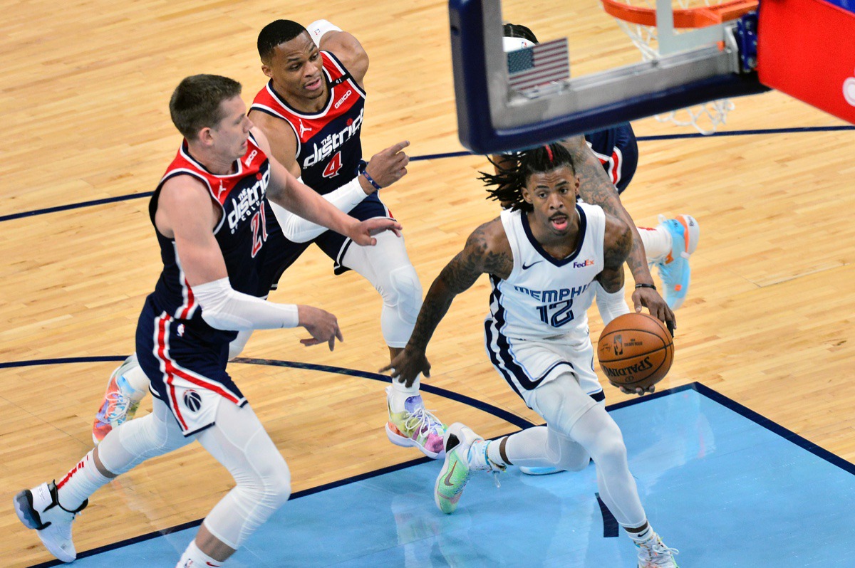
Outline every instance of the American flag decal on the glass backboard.
{"label": "American flag decal on the glass backboard", "polygon": [[568,79],[570,76],[567,38],[510,51],[507,56],[509,84],[517,91]]}

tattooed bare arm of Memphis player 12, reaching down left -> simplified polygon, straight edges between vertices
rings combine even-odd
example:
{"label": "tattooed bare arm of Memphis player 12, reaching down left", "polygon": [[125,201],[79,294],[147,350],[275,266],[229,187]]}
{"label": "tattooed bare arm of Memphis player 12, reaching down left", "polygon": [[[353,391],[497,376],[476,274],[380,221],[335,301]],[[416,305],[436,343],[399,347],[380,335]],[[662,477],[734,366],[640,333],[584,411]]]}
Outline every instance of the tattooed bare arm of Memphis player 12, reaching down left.
{"label": "tattooed bare arm of Memphis player 12, reaching down left", "polygon": [[513,267],[514,259],[502,221],[495,219],[475,229],[463,250],[433,280],[407,346],[380,372],[391,371],[393,379],[403,381],[408,387],[420,372],[430,377],[430,363],[425,351],[454,297],[469,290],[481,274],[508,278]]}

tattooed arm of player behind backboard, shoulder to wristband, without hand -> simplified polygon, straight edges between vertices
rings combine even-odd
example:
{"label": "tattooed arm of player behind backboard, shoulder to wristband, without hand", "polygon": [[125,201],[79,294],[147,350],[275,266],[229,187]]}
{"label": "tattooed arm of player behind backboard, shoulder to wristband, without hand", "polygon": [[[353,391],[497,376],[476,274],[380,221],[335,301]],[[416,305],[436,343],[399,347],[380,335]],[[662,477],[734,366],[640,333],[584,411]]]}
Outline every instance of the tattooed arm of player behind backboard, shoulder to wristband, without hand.
{"label": "tattooed arm of player behind backboard, shoulder to wristband, without hand", "polygon": [[606,213],[616,216],[629,225],[633,239],[632,249],[627,258],[629,270],[633,273],[636,284],[640,282],[652,284],[653,278],[650,269],[647,267],[644,244],[641,243],[638,229],[635,228],[635,221],[623,207],[620,197],[617,196],[615,186],[611,184],[597,156],[593,155],[591,149],[588,148],[585,137],[568,138],[563,141],[563,144],[573,156],[576,175],[581,180],[579,194],[582,200],[593,205],[599,205]]}

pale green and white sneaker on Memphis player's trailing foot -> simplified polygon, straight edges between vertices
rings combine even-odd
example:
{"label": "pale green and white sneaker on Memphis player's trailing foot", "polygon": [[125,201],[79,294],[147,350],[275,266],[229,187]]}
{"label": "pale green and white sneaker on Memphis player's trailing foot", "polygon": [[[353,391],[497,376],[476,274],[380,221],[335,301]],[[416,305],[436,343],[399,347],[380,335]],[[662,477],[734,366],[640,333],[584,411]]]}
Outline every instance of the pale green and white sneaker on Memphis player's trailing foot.
{"label": "pale green and white sneaker on Memphis player's trailing foot", "polygon": [[[457,502],[460,501],[463,488],[469,482],[469,477],[472,477],[473,471],[492,471],[497,476],[504,471],[505,466],[494,464],[486,457],[489,443],[475,434],[469,426],[459,422],[445,430],[445,462],[433,485],[433,502],[440,511],[451,514],[457,509]],[[473,448],[476,444],[478,448]]]}

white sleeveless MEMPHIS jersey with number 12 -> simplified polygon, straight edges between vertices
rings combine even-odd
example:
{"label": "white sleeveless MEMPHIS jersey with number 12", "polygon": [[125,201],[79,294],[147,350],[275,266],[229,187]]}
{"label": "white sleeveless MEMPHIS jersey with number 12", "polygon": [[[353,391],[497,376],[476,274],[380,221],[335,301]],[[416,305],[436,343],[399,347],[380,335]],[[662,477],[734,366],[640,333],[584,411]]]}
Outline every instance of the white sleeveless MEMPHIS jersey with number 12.
{"label": "white sleeveless MEMPHIS jersey with number 12", "polygon": [[490,277],[490,315],[498,334],[517,339],[587,337],[587,310],[594,297],[591,284],[604,267],[605,214],[587,203],[576,203],[575,208],[582,237],[573,253],[561,260],[534,239],[526,214],[502,212],[514,268],[505,280]]}

